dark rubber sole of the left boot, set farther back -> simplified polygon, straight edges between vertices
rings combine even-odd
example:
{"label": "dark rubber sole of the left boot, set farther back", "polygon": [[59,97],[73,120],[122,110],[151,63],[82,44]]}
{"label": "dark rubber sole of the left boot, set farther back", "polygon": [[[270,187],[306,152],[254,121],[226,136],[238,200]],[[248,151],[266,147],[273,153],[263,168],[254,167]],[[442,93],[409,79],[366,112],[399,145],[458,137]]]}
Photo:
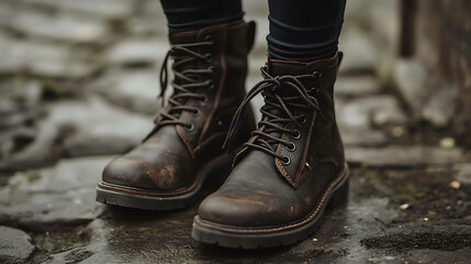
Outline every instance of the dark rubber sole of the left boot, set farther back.
{"label": "dark rubber sole of the left boot, set farther back", "polygon": [[184,194],[166,195],[149,190],[111,185],[101,182],[97,186],[97,201],[143,210],[176,210],[194,205],[204,196],[217,189],[231,173],[228,155],[214,158],[197,173],[195,187]]}

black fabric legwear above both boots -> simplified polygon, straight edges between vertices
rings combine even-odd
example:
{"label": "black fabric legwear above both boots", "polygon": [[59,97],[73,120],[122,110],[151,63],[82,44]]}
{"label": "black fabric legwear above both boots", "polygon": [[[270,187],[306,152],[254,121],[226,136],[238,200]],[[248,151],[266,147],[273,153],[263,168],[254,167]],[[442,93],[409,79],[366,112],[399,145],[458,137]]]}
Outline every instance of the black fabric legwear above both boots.
{"label": "black fabric legwear above both boots", "polygon": [[[160,0],[170,32],[242,19],[240,0]],[[310,62],[338,50],[346,0],[268,0],[272,58]]]}

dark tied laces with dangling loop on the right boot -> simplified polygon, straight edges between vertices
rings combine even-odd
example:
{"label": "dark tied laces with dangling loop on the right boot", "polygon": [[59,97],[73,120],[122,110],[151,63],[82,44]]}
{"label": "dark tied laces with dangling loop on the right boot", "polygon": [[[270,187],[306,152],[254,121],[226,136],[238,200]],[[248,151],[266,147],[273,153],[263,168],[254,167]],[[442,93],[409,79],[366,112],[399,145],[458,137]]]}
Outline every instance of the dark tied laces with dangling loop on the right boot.
{"label": "dark tied laces with dangling loop on the right boot", "polygon": [[[294,129],[288,129],[287,124],[289,122],[294,122],[298,125],[302,125],[306,120],[304,114],[293,116],[290,109],[305,109],[317,111],[318,116],[325,120],[325,117],[321,112],[319,103],[317,99],[310,95],[313,90],[316,91],[317,88],[313,87],[307,90],[304,85],[300,81],[300,79],[304,78],[318,78],[319,73],[315,72],[312,75],[299,75],[299,76],[276,76],[272,77],[267,73],[265,67],[260,68],[263,80],[257,82],[254,88],[247,94],[240,103],[239,108],[235,112],[235,116],[231,122],[229,131],[227,138],[224,142],[223,147],[228,147],[231,153],[233,153],[232,148],[232,139],[237,133],[243,117],[245,114],[246,107],[249,101],[256,97],[258,94],[265,98],[265,105],[261,107],[260,112],[262,113],[261,121],[257,124],[257,130],[251,133],[253,136],[258,136],[253,143],[245,143],[244,147],[253,147],[259,151],[262,151],[272,156],[279,157],[283,161],[284,156],[281,156],[276,153],[276,150],[272,148],[273,144],[283,144],[285,146],[293,145],[292,142],[285,141],[281,139],[282,133],[288,133],[293,136],[296,136],[300,131]],[[294,89],[298,96],[280,96],[278,90],[281,87]],[[304,103],[303,103],[304,102]],[[279,114],[277,114],[277,110],[279,110]],[[261,129],[265,128],[265,129]],[[278,135],[277,135],[278,134]],[[300,136],[299,134],[298,136]],[[289,161],[284,161],[289,162]]]}

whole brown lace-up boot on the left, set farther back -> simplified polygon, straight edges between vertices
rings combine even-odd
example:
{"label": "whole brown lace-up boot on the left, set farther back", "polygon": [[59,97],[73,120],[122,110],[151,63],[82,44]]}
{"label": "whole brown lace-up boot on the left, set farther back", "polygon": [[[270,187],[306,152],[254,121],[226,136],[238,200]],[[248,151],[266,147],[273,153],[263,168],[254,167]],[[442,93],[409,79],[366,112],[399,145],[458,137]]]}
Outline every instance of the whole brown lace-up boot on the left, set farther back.
{"label": "whole brown lace-up boot on the left, set farther back", "polygon": [[[100,202],[149,210],[182,208],[198,201],[203,184],[217,188],[231,172],[232,160],[222,145],[246,95],[255,23],[239,20],[169,37],[160,96],[167,87],[168,57],[173,58],[173,94],[142,144],[104,168],[97,188]],[[242,127],[236,139],[240,145],[255,128],[251,110]]]}

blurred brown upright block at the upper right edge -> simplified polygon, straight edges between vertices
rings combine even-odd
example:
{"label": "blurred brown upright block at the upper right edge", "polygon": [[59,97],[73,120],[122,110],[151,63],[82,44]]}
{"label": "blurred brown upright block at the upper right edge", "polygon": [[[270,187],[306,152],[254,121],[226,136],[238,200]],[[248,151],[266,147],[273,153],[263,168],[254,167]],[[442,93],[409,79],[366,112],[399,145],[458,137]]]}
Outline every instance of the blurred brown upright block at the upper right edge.
{"label": "blurred brown upright block at the upper right edge", "polygon": [[422,113],[464,134],[471,128],[471,1],[415,2],[413,56],[427,73]]}

